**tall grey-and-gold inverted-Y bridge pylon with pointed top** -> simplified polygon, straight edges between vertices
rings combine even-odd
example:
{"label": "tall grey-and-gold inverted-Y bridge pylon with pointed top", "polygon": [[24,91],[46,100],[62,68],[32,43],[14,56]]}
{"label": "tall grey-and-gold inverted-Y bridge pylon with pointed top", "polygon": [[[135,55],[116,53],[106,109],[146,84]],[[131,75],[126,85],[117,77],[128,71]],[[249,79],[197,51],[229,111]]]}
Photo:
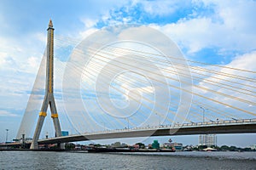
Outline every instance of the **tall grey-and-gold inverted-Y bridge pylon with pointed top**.
{"label": "tall grey-and-gold inverted-Y bridge pylon with pointed top", "polygon": [[[44,102],[39,113],[38,124],[32,139],[30,149],[38,149],[38,139],[44,124],[45,116],[47,116],[48,106],[50,108],[51,117],[55,126],[55,135],[61,136],[61,125],[58,118],[58,113],[55,105],[54,97],[54,28],[52,21],[49,20],[48,37],[47,37],[47,59],[46,59],[46,82],[45,82],[45,95]],[[64,149],[64,144],[59,144],[60,149]]]}

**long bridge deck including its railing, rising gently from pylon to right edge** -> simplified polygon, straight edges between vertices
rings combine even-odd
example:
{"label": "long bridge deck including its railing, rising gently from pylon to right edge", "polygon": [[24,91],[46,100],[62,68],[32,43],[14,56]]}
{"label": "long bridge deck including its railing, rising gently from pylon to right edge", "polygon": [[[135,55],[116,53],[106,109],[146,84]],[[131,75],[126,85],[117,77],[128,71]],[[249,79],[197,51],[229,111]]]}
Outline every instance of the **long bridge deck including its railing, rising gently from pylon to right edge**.
{"label": "long bridge deck including its railing, rising gently from pylon to right edge", "polygon": [[121,139],[208,133],[256,133],[256,119],[184,123],[176,124],[173,127],[170,125],[163,125],[155,127],[109,130],[97,133],[74,134],[50,139],[40,139],[38,140],[38,144],[68,143],[96,139]]}

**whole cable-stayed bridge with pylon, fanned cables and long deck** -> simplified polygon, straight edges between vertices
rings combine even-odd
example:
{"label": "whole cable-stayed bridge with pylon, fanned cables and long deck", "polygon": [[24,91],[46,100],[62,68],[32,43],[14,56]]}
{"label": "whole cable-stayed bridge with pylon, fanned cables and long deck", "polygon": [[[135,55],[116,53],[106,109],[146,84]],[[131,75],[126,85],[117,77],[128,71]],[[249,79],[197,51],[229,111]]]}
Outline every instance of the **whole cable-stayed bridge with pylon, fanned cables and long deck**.
{"label": "whole cable-stayed bridge with pylon, fanned cables and long deck", "polygon": [[[52,24],[48,31],[17,139],[36,131],[37,147],[87,139],[256,132],[256,71],[242,68],[242,59],[229,65],[185,59],[174,42],[146,26],[111,27],[83,41],[54,37]],[[53,94],[55,99],[47,97]],[[43,139],[45,133],[55,137],[43,101],[58,131],[53,139]],[[61,136],[61,130],[71,128],[76,134]]]}

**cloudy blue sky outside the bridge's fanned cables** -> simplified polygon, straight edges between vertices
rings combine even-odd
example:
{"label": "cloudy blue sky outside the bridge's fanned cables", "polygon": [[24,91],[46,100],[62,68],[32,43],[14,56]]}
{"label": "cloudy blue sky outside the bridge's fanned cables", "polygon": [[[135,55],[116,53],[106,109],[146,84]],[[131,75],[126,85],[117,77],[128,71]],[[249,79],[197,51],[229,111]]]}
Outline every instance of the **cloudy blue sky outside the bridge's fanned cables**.
{"label": "cloudy blue sky outside the bridge's fanned cables", "polygon": [[[14,139],[20,126],[44,54],[49,19],[55,35],[79,40],[105,26],[151,26],[177,43],[186,59],[256,71],[255,8],[253,0],[1,1],[0,142],[5,129]],[[198,142],[196,135],[174,139]],[[255,134],[218,137],[218,144],[255,143]]]}

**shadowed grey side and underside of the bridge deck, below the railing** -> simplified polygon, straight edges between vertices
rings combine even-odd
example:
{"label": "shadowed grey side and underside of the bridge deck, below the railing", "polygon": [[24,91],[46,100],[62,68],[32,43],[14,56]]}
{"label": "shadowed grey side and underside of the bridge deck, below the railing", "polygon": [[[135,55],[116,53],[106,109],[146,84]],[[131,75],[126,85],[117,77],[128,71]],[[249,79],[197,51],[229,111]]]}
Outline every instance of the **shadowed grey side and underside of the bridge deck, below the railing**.
{"label": "shadowed grey side and underside of the bridge deck, below the railing", "polygon": [[73,136],[61,136],[53,139],[38,140],[38,144],[55,144],[68,143],[96,139],[121,139],[136,138],[149,136],[173,136],[173,135],[192,135],[192,134],[209,134],[209,133],[256,133],[256,124],[240,125],[219,125],[206,127],[180,127],[170,128],[162,127],[160,129],[142,129],[142,130],[123,130],[119,132],[77,134]]}

